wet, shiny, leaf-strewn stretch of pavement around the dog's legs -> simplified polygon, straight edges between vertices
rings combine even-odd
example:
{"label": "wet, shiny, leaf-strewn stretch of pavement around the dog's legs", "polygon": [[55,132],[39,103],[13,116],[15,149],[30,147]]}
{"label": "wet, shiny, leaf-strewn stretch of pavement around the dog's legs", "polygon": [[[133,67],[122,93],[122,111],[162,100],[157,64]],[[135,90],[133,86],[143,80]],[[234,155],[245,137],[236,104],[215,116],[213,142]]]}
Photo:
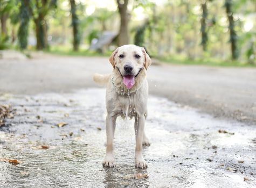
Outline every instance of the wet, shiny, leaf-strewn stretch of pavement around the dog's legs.
{"label": "wet, shiny, leaf-strewn stretch of pavement around the dog's legs", "polygon": [[[0,128],[0,187],[255,187],[256,128],[150,96],[144,148],[134,167],[133,120],[117,119],[117,167],[103,168],[105,89],[0,95],[14,117]],[[58,127],[61,122],[67,125]],[[45,149],[42,148],[44,146]],[[48,148],[49,147],[49,148]],[[148,178],[135,179],[136,173]]]}

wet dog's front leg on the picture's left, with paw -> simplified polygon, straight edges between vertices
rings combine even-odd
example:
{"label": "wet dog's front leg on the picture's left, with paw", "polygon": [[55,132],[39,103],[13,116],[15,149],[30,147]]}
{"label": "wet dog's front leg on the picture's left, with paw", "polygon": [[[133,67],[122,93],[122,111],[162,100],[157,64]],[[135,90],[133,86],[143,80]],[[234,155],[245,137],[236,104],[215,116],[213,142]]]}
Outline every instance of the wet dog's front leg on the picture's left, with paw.
{"label": "wet dog's front leg on the picture's left, with paw", "polygon": [[113,153],[113,139],[115,133],[115,121],[116,116],[107,115],[106,122],[107,122],[107,153],[105,160],[103,161],[104,167],[115,167],[114,161],[114,153]]}

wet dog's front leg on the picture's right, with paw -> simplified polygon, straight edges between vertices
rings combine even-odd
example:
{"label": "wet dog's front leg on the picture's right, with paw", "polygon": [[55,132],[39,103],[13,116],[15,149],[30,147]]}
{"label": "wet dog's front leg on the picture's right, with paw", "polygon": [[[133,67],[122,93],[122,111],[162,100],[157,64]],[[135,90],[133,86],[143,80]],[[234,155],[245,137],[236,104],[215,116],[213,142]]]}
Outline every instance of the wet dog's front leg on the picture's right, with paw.
{"label": "wet dog's front leg on the picture's right, with paw", "polygon": [[145,117],[135,117],[135,136],[136,136],[136,148],[135,148],[135,167],[146,169],[147,164],[142,155],[142,143],[143,143],[143,136],[144,136],[144,124],[145,124]]}

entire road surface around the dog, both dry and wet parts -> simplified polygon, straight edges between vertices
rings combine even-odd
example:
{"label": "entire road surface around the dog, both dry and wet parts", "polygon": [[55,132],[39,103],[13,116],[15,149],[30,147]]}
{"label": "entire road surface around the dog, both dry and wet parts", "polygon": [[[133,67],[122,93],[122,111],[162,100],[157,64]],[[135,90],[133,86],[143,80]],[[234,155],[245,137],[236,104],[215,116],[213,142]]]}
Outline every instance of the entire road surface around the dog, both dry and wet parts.
{"label": "entire road surface around the dog, both dry and wet parts", "polygon": [[0,61],[0,104],[12,109],[0,128],[0,187],[256,186],[254,69],[152,66],[149,167],[134,167],[133,120],[118,119],[117,167],[109,169],[101,164],[105,89],[91,81],[95,71],[111,70],[105,64],[99,57]]}

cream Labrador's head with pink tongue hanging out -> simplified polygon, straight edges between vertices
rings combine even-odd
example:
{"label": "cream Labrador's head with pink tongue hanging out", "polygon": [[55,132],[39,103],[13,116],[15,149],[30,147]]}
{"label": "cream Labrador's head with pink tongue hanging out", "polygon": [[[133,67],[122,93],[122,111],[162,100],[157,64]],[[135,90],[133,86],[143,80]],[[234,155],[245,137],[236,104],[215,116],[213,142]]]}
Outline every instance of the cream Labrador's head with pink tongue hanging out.
{"label": "cream Labrador's head with pink tongue hanging out", "polygon": [[151,59],[145,48],[135,45],[124,45],[117,48],[109,57],[113,68],[118,69],[127,88],[132,88],[135,78],[144,68],[151,64]]}

